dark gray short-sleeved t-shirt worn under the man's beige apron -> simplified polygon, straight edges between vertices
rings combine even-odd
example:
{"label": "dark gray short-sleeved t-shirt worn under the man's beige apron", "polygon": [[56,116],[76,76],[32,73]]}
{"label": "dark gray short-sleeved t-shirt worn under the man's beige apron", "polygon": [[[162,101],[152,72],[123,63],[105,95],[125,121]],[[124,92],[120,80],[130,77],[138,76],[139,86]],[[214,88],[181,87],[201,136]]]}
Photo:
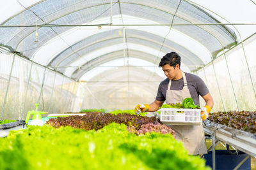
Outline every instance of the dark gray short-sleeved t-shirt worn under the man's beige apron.
{"label": "dark gray short-sleeved t-shirt worn under the man's beige apron", "polygon": [[[190,95],[196,105],[200,105],[199,103],[199,95],[205,96],[209,93],[208,88],[206,87],[204,81],[195,74],[185,73],[188,83],[188,89]],[[162,81],[158,87],[156,100],[157,101],[165,101],[166,100],[166,90],[168,88],[169,79],[166,78]],[[183,78],[180,80],[172,80],[171,90],[182,90],[184,87]]]}

